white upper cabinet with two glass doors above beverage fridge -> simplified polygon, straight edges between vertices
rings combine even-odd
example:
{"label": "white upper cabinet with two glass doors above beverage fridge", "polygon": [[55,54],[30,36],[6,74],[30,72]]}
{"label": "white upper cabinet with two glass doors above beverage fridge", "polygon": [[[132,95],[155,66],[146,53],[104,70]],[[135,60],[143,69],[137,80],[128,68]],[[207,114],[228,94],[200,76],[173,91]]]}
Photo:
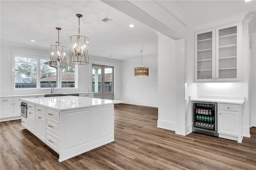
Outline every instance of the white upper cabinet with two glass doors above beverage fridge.
{"label": "white upper cabinet with two glass doors above beverage fridge", "polygon": [[195,34],[195,82],[239,81],[242,24]]}

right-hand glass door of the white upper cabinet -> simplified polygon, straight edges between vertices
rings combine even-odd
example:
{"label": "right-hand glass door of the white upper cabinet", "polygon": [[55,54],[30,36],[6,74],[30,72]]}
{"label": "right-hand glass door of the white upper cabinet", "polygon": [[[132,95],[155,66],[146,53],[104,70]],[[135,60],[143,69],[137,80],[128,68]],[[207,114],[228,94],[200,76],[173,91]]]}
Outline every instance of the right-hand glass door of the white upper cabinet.
{"label": "right-hand glass door of the white upper cabinet", "polygon": [[238,26],[216,31],[216,81],[238,79]]}

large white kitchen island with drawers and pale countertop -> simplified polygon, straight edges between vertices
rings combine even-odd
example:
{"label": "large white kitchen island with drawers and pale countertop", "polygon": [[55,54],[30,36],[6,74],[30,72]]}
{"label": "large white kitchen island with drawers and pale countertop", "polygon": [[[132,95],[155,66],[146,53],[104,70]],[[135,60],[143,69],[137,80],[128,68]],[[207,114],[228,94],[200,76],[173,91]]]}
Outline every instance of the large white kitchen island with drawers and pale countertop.
{"label": "large white kitchen island with drawers and pale countertop", "polygon": [[59,154],[59,162],[114,141],[114,103],[77,96],[21,99],[28,129]]}

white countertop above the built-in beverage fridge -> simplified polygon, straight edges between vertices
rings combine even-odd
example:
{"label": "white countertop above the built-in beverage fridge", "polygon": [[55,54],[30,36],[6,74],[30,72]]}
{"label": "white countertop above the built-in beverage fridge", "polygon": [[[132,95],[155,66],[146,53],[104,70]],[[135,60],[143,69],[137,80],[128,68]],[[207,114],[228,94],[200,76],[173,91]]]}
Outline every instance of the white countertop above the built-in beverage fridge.
{"label": "white countertop above the built-in beverage fridge", "polygon": [[196,96],[190,96],[190,101],[202,101],[202,102],[228,103],[228,104],[242,105],[244,103],[244,97],[196,95]]}

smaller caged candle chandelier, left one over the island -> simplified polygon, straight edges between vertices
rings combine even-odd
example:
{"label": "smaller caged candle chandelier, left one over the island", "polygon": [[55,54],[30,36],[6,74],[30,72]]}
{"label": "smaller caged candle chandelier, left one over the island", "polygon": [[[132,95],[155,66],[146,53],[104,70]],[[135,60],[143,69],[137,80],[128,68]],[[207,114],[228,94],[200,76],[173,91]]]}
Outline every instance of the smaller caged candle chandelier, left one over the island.
{"label": "smaller caged candle chandelier, left one over the island", "polygon": [[65,68],[67,66],[66,62],[66,51],[67,47],[60,45],[60,33],[61,28],[56,28],[58,30],[58,45],[50,45],[50,66],[57,68]]}

